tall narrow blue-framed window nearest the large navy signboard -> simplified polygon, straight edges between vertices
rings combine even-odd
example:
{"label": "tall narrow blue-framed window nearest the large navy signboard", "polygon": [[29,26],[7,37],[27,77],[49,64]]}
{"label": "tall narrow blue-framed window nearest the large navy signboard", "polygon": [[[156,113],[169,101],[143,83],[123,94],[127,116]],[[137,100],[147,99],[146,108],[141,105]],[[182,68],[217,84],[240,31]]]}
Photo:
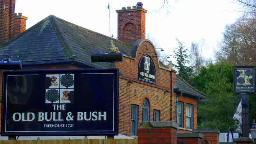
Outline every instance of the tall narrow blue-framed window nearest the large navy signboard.
{"label": "tall narrow blue-framed window nearest the large navy signboard", "polygon": [[138,113],[139,107],[136,105],[131,106],[131,135],[138,135]]}

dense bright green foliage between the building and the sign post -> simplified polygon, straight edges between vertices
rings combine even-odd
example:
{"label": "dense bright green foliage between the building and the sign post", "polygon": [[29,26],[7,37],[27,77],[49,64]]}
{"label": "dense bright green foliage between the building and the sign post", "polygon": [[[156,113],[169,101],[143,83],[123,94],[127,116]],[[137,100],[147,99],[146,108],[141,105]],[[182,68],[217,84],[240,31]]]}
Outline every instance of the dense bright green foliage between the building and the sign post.
{"label": "dense bright green foliage between the building and the sign post", "polygon": [[193,79],[194,86],[206,95],[198,104],[198,127],[218,128],[227,132],[239,126],[233,119],[240,98],[233,92],[233,67],[229,63],[210,64],[202,67]]}

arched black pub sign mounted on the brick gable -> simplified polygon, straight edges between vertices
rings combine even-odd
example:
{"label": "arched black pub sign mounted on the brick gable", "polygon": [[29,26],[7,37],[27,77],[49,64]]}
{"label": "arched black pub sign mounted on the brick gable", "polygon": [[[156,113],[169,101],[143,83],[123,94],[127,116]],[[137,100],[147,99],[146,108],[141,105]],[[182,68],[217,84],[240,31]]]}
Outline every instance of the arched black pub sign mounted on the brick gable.
{"label": "arched black pub sign mounted on the brick gable", "polygon": [[156,84],[156,70],[153,60],[149,55],[144,55],[139,63],[139,80]]}

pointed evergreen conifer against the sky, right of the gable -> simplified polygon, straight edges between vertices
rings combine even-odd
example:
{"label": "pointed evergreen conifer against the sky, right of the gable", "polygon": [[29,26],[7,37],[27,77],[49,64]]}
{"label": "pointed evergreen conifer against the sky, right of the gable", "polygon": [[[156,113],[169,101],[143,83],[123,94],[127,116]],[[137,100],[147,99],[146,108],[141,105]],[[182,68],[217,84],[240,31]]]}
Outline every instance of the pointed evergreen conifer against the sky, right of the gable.
{"label": "pointed evergreen conifer against the sky, right of the gable", "polygon": [[173,66],[178,70],[178,75],[189,83],[193,76],[193,67],[187,66],[189,63],[188,49],[178,39],[177,41],[179,42],[179,47],[174,50],[174,58],[176,60]]}

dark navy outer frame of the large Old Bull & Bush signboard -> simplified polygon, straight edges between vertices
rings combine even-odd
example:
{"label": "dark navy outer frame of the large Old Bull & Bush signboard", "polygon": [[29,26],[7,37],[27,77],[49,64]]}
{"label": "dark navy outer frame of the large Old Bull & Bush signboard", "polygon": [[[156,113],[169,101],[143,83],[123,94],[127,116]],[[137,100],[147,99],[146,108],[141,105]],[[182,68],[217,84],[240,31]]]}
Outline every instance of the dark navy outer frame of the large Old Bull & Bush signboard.
{"label": "dark navy outer frame of the large Old Bull & Bush signboard", "polygon": [[[6,132],[7,120],[6,120],[6,106],[7,106],[7,94],[6,94],[6,79],[7,75],[31,75],[38,74],[39,78],[42,76],[46,76],[46,74],[84,74],[84,73],[92,73],[92,74],[101,74],[101,73],[113,73],[114,74],[114,98],[113,98],[113,131],[19,131],[19,132]],[[45,78],[45,77],[43,77]],[[75,79],[74,79],[75,80]],[[78,81],[78,80],[77,80]],[[76,82],[75,82],[76,84]],[[74,91],[76,92],[76,88],[74,87]],[[106,69],[96,69],[96,68],[87,68],[87,69],[44,69],[44,70],[3,70],[3,81],[2,81],[2,114],[1,114],[1,135],[2,136],[85,136],[85,135],[118,135],[118,120],[119,120],[119,70],[117,68],[106,68]],[[75,124],[77,122],[74,122]]]}

